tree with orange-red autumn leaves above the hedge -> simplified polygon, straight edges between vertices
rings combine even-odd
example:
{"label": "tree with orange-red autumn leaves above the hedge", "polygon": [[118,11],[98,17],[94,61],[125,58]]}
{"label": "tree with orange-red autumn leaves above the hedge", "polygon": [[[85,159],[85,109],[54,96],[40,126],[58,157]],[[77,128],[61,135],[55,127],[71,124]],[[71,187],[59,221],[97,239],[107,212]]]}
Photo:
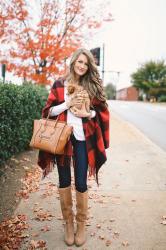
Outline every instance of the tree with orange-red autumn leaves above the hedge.
{"label": "tree with orange-red autumn leaves above the hedge", "polygon": [[101,7],[91,13],[87,0],[1,0],[1,63],[23,79],[48,84],[65,73],[85,33],[105,21],[111,14]]}

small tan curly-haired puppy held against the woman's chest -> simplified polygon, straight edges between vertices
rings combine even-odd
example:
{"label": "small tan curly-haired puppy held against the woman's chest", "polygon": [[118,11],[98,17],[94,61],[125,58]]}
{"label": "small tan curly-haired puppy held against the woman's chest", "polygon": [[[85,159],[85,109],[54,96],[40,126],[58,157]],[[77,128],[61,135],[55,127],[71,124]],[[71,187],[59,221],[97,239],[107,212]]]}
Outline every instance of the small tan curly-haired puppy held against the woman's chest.
{"label": "small tan curly-haired puppy held against the woman's chest", "polygon": [[[83,102],[79,105],[75,105],[77,109],[82,110],[82,112],[86,111],[89,113],[90,111],[90,98],[87,91],[83,88],[83,86],[69,83],[67,86],[67,95],[72,98],[77,98],[78,96],[83,97]],[[72,107],[70,108],[72,111]]]}

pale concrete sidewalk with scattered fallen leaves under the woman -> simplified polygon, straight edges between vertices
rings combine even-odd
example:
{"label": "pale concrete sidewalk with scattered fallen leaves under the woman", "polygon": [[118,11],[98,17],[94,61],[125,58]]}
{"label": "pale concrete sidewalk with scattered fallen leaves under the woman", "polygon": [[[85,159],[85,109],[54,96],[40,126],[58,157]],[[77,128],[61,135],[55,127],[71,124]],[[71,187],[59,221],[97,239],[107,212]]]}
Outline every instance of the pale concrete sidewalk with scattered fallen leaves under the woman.
{"label": "pale concrete sidewalk with scattered fallen leaves under the woman", "polygon": [[[99,175],[101,185],[88,182],[87,242],[80,249],[166,250],[166,153],[112,114],[107,155]],[[78,249],[63,241],[57,185],[55,170],[15,211],[27,214],[30,224],[22,250],[28,249],[31,240],[40,239],[49,250]],[[39,211],[47,212],[50,220],[37,221]]]}

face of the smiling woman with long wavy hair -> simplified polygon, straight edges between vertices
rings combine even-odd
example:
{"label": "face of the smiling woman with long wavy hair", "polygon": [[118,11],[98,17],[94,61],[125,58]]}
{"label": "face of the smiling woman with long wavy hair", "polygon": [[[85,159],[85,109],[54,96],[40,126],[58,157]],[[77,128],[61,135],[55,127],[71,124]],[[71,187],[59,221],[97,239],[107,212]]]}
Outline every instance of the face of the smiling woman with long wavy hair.
{"label": "face of the smiling woman with long wavy hair", "polygon": [[80,77],[86,74],[88,70],[88,59],[84,54],[79,55],[74,64],[74,72]]}

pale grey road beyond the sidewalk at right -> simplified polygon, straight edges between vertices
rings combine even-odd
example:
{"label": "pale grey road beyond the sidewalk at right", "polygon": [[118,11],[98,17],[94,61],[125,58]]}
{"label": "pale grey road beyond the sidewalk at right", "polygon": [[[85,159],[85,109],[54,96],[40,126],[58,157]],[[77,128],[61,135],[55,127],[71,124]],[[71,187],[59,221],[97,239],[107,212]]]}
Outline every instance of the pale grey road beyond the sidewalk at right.
{"label": "pale grey road beyond the sidewalk at right", "polygon": [[166,105],[109,101],[110,110],[135,125],[154,143],[166,151]]}

